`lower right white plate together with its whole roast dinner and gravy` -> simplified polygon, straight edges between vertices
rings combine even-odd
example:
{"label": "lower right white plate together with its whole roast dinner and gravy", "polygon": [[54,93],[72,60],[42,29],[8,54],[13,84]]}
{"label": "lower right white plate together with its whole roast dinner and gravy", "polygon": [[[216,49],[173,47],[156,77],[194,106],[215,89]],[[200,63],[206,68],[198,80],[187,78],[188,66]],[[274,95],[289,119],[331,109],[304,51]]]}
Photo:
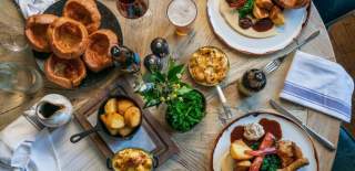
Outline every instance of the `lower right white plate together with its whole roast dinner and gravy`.
{"label": "lower right white plate together with its whole roast dinner and gravy", "polygon": [[307,132],[287,117],[250,113],[226,126],[211,158],[214,171],[317,171],[318,159]]}

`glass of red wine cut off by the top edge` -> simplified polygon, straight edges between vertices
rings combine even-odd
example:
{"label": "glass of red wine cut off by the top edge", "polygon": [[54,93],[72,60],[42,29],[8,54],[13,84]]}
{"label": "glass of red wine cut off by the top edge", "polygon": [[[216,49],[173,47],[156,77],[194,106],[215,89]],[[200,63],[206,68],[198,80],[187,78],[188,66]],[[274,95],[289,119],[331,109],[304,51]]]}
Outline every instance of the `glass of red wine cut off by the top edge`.
{"label": "glass of red wine cut off by the top edge", "polygon": [[118,10],[128,19],[138,19],[148,11],[149,0],[118,0]]}

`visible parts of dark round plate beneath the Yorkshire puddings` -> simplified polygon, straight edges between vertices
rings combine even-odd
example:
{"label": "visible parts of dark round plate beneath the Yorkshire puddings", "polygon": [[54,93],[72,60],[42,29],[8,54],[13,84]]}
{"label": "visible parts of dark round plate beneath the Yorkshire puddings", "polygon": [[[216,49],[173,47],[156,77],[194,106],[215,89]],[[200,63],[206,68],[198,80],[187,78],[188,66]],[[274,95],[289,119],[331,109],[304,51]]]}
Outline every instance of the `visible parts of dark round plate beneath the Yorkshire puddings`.
{"label": "visible parts of dark round plate beneath the Yorkshire puddings", "polygon": [[[50,13],[58,17],[62,17],[62,11],[64,8],[67,0],[60,0],[50,6],[43,13]],[[119,44],[123,44],[123,35],[121,31],[120,23],[115,15],[111,12],[110,9],[108,9],[102,2],[95,1],[99,12],[101,14],[101,25],[100,29],[110,29],[113,31],[119,39]],[[42,53],[42,52],[36,52],[32,51],[33,55],[36,57],[36,62],[41,71],[44,71],[43,64],[45,58],[50,56],[51,53]],[[103,70],[99,73],[93,73],[89,70],[87,70],[87,77],[82,81],[82,83],[79,85],[79,88],[83,87],[90,87],[91,85],[94,85],[95,83],[99,83],[106,78],[110,72],[113,72],[114,67],[109,67],[106,70]]]}

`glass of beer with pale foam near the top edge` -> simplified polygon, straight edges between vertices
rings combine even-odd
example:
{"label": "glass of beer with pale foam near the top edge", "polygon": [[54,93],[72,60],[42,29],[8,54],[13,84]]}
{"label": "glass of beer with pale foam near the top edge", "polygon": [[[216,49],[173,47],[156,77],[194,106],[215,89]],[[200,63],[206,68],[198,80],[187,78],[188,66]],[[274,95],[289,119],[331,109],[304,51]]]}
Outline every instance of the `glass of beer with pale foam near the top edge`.
{"label": "glass of beer with pale foam near the top edge", "polygon": [[193,0],[172,0],[166,15],[169,21],[175,25],[178,35],[187,35],[197,17],[197,6]]}

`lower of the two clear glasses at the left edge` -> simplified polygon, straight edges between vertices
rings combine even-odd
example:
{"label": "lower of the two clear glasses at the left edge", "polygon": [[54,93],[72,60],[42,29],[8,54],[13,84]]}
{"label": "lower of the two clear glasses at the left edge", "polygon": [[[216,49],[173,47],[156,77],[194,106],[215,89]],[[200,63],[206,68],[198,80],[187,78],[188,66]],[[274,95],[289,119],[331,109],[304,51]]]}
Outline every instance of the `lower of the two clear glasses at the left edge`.
{"label": "lower of the two clear glasses at the left edge", "polygon": [[0,89],[10,93],[34,94],[43,86],[41,74],[31,66],[0,63]]}

